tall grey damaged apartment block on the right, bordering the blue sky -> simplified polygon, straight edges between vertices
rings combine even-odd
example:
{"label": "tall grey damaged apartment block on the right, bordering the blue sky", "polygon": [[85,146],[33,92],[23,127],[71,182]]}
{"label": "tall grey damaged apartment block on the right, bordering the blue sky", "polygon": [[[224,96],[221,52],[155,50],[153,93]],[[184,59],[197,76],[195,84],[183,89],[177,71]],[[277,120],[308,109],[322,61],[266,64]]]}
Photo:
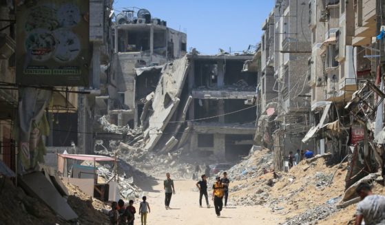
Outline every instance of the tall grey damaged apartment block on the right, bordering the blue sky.
{"label": "tall grey damaged apartment block on the right, bordering the blue sky", "polygon": [[256,142],[273,149],[275,169],[284,169],[289,151],[308,147],[301,142],[309,127],[311,103],[308,3],[276,0],[262,24]]}

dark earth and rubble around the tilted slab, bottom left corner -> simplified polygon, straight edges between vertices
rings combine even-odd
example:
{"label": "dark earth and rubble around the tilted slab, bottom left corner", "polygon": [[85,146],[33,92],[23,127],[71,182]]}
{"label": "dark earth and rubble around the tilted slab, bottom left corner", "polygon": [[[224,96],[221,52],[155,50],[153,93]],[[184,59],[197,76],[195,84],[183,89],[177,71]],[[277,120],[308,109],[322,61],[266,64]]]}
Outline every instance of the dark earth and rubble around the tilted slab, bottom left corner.
{"label": "dark earth and rubble around the tilted slab, bottom left corner", "polygon": [[64,182],[69,193],[67,202],[79,218],[76,222],[67,222],[41,200],[27,195],[10,180],[3,179],[0,179],[0,224],[110,224],[107,215],[102,213],[103,208],[109,206],[72,184]]}

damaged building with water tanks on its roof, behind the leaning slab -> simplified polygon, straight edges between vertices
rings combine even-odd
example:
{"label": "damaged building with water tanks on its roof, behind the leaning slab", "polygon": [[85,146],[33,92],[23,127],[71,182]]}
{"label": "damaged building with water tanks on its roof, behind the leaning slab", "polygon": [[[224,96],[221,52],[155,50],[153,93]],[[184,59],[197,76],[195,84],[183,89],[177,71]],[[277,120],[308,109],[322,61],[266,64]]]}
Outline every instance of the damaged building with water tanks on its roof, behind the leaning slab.
{"label": "damaged building with water tanks on its roof, behind the leaning slab", "polygon": [[125,10],[113,29],[116,98],[110,122],[130,128],[141,125],[145,97],[154,92],[162,65],[187,53],[187,34],[167,27],[148,10]]}

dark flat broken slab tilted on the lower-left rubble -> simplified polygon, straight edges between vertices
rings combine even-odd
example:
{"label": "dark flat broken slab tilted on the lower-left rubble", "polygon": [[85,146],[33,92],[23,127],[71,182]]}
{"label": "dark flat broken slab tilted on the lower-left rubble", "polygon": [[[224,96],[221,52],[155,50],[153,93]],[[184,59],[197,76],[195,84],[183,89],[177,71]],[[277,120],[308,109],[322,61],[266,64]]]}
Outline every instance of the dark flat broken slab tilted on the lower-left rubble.
{"label": "dark flat broken slab tilted on the lower-left rubble", "polygon": [[28,194],[39,197],[52,211],[63,217],[63,219],[70,221],[78,218],[78,215],[65,202],[65,199],[61,197],[43,173],[34,172],[23,175],[20,179],[20,184]]}

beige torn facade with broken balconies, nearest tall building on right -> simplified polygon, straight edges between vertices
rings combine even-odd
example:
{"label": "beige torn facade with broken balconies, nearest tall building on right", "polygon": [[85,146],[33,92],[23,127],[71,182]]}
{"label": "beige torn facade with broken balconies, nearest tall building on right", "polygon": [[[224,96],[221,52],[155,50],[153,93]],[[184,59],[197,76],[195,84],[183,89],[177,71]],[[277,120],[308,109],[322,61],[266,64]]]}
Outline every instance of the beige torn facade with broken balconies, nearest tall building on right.
{"label": "beige torn facade with broken balconies, nearest tall building on right", "polygon": [[[344,109],[367,79],[373,81],[376,1],[309,1],[312,54],[309,58],[312,127],[304,142],[315,153],[342,160],[364,129]],[[331,126],[332,125],[332,126]]]}

